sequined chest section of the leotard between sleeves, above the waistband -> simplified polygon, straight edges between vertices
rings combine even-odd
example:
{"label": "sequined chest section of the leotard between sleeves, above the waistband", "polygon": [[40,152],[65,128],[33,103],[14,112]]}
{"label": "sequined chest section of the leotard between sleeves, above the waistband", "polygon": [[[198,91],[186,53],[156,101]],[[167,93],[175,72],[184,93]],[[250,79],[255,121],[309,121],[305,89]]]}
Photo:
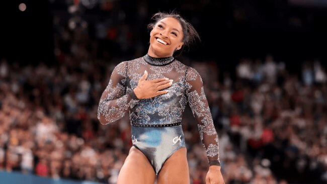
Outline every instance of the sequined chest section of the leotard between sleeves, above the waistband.
{"label": "sequined chest section of the leotard between sleeves, above the waistband", "polygon": [[132,124],[138,125],[165,125],[180,123],[182,114],[187,104],[185,94],[185,73],[188,66],[178,60],[163,65],[153,66],[147,63],[143,57],[127,63],[126,94],[136,87],[144,70],[148,72],[147,80],[167,77],[173,79],[173,84],[166,88],[169,93],[149,99],[141,99],[130,110]]}

